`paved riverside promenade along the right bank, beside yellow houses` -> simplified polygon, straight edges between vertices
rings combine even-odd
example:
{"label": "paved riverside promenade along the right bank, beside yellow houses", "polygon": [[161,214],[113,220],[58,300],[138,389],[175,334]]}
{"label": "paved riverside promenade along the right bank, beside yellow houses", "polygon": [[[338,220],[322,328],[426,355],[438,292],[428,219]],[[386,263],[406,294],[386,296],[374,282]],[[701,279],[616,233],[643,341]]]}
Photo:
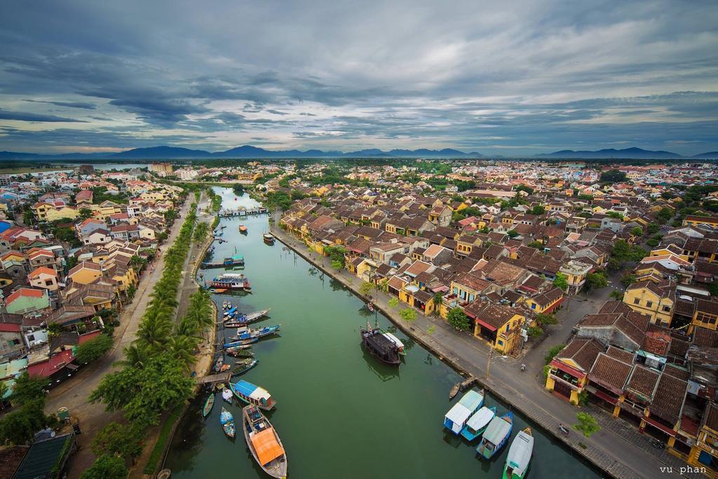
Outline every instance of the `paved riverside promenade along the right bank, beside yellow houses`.
{"label": "paved riverside promenade along the right bank, beside yellow houses", "polygon": [[[360,280],[348,271],[332,269],[330,260],[279,228],[281,213],[275,213],[271,231],[281,243],[291,248],[325,274],[336,279],[354,294],[369,300],[359,293]],[[406,322],[398,315],[398,308],[388,302],[392,297],[383,292],[373,291],[371,301],[397,327],[407,335],[419,341],[424,347],[442,358],[465,376],[475,376],[494,396],[502,399],[513,408],[553,432],[556,440],[564,442],[575,452],[593,462],[608,475],[615,478],[656,478],[661,477],[702,477],[699,474],[681,474],[685,462],[665,450],[656,450],[643,434],[628,427],[607,427],[611,419],[601,411],[589,406],[579,409],[554,397],[543,386],[543,363],[527,362],[526,371],[521,371],[521,359],[494,356],[490,365],[490,376],[486,378],[488,366],[488,346],[480,343],[467,332],[457,332],[440,317],[430,317],[417,311],[416,320]],[[543,351],[533,350],[531,356],[542,356]],[[523,361],[528,361],[526,358]],[[448,391],[447,391],[448,397]],[[558,424],[574,424],[578,411],[589,411],[602,425],[600,432],[592,437],[584,437],[572,430],[568,436],[556,434]],[[672,471],[661,468],[673,468]]]}

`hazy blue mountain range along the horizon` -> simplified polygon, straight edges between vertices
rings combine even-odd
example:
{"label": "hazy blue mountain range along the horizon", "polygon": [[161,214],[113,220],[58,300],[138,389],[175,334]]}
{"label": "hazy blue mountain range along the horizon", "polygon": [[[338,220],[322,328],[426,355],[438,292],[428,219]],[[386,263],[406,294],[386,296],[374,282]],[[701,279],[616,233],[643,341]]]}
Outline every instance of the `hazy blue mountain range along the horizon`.
{"label": "hazy blue mountain range along the horizon", "polygon": [[[493,157],[500,157],[492,155]],[[65,154],[34,154],[21,152],[0,152],[1,160],[10,159],[194,159],[194,158],[482,158],[477,152],[462,152],[457,149],[361,149],[355,152],[322,151],[309,149],[300,151],[270,150],[251,145],[243,145],[228,149],[225,152],[206,152],[202,149],[182,147],[149,147],[134,148],[118,153],[65,153]],[[566,159],[718,159],[718,152],[696,154],[684,157],[673,152],[651,151],[640,148],[600,149],[595,151],[564,149],[559,152],[542,153],[534,158],[566,158]]]}

